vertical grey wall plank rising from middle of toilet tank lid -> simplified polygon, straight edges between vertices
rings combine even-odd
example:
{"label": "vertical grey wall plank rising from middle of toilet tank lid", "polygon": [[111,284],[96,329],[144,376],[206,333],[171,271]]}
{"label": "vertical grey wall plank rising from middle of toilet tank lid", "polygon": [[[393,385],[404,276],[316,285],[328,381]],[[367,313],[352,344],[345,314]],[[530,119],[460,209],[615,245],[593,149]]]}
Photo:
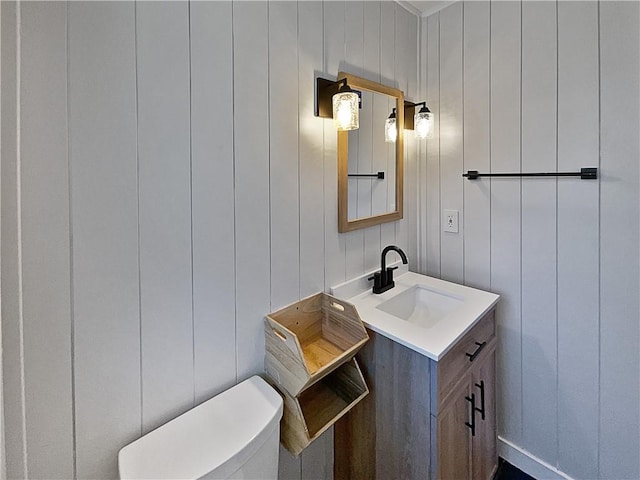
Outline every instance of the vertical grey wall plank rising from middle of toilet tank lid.
{"label": "vertical grey wall plank rising from middle of toilet tank lid", "polygon": [[[230,2],[190,5],[194,387],[199,403],[236,381],[233,37]],[[211,88],[218,85],[219,88]],[[229,252],[229,254],[222,254]],[[222,274],[227,282],[217,279]],[[216,288],[211,288],[216,285]],[[211,321],[215,312],[215,321]],[[224,358],[225,362],[218,359]]]}

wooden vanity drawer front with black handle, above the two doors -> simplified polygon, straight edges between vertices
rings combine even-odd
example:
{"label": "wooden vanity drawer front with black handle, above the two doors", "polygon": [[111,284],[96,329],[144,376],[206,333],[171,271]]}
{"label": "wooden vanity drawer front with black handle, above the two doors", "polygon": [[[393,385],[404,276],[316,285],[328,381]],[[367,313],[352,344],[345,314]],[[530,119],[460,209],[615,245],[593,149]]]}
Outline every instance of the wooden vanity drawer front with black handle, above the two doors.
{"label": "wooden vanity drawer front with black handle, above the two doors", "polygon": [[438,403],[451,392],[467,369],[489,351],[496,336],[495,310],[486,313],[474,327],[437,363]]}

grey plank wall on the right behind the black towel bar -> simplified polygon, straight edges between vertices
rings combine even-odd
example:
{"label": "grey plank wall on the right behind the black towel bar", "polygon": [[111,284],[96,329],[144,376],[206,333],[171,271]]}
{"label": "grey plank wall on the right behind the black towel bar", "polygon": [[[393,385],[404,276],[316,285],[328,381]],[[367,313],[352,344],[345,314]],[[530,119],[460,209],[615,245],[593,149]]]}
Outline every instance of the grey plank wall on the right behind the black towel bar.
{"label": "grey plank wall on the right behind the black towel bar", "polygon": [[[421,22],[419,265],[502,295],[501,452],[537,478],[640,476],[639,10],[470,1]],[[588,166],[599,180],[461,177]]]}

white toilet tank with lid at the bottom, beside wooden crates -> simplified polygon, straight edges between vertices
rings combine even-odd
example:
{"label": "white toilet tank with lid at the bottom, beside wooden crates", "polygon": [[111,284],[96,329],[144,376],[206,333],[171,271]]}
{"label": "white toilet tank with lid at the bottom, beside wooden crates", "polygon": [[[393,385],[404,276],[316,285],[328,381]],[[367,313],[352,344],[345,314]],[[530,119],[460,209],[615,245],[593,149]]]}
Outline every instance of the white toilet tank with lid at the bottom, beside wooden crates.
{"label": "white toilet tank with lid at the bottom, beside wooden crates", "polygon": [[118,454],[121,479],[276,479],[282,398],[258,376]]}

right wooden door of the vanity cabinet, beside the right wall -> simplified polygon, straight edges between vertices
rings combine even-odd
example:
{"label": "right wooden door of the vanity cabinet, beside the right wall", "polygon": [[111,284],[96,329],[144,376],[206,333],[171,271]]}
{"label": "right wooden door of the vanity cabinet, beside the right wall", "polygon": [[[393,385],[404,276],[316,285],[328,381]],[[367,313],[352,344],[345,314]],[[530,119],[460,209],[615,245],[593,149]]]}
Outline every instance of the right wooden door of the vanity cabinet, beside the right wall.
{"label": "right wooden door of the vanity cabinet, beside the right wall", "polygon": [[[472,442],[471,478],[490,480],[498,467],[495,399],[496,350],[488,355],[472,372],[472,392],[476,396],[476,435]],[[484,415],[482,415],[484,412]]]}

